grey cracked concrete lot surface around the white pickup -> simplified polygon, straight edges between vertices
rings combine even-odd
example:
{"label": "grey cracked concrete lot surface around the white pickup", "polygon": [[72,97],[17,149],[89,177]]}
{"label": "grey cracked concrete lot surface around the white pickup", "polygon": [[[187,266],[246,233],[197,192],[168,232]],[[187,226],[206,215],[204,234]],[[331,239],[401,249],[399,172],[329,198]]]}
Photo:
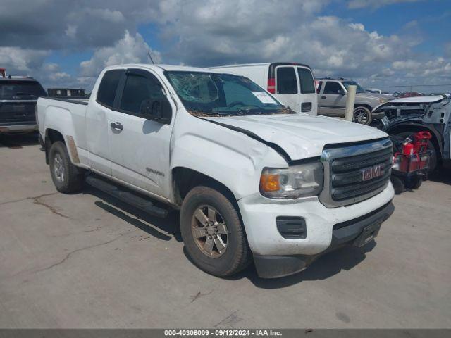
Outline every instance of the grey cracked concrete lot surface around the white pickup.
{"label": "grey cracked concrete lot surface around the white pickup", "polygon": [[57,193],[31,137],[0,158],[0,327],[451,327],[450,173],[396,196],[364,251],[221,280],[186,258],[176,214]]}

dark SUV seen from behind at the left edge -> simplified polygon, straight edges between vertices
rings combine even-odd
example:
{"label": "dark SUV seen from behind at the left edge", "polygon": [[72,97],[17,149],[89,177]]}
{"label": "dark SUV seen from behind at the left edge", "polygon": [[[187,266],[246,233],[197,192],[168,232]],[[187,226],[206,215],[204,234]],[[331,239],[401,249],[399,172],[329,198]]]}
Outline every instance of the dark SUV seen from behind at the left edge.
{"label": "dark SUV seen from behind at the left edge", "polygon": [[47,93],[32,77],[0,77],[0,133],[37,130],[38,96],[47,96]]}

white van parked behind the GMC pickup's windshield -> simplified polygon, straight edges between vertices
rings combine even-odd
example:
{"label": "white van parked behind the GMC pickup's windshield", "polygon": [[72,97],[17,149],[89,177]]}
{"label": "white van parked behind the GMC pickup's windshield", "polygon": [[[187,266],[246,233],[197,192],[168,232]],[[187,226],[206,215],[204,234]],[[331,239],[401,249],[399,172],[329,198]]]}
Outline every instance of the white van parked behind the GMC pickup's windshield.
{"label": "white van parked behind the GMC pickup's windshield", "polygon": [[210,69],[249,77],[293,111],[317,114],[318,97],[311,68],[301,63],[250,63]]}

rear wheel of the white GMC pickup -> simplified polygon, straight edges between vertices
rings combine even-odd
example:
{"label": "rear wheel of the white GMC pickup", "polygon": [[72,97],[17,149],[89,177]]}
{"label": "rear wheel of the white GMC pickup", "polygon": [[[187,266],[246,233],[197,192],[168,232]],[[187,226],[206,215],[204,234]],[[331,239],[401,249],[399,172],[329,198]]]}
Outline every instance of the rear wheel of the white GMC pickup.
{"label": "rear wheel of the white GMC pickup", "polygon": [[70,161],[66,144],[58,141],[51,145],[49,151],[49,167],[51,180],[56,190],[68,194],[78,192],[83,186],[81,170]]}

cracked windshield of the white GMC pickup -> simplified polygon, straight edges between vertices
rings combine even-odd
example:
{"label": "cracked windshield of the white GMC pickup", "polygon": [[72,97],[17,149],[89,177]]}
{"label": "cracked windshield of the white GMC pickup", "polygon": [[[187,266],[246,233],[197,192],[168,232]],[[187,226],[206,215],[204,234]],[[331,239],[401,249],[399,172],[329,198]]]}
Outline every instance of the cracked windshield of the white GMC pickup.
{"label": "cracked windshield of the white GMC pickup", "polygon": [[192,115],[295,113],[246,77],[184,71],[166,72],[166,77]]}

